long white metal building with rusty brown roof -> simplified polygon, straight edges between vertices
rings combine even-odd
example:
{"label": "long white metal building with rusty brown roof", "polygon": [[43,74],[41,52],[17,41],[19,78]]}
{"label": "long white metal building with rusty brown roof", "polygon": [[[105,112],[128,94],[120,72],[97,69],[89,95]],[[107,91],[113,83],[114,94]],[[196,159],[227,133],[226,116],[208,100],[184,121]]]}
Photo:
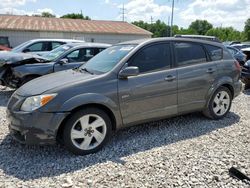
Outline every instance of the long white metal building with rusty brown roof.
{"label": "long white metal building with rusty brown roof", "polygon": [[150,38],[152,33],[121,21],[97,21],[32,16],[0,15],[0,36],[15,47],[37,38],[78,39],[115,44]]}

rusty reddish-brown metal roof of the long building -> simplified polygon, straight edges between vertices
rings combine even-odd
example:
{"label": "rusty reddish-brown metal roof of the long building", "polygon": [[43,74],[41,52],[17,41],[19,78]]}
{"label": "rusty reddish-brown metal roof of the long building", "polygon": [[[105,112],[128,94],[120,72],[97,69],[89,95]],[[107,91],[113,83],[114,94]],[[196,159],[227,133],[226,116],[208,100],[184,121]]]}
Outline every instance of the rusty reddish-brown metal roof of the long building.
{"label": "rusty reddish-brown metal roof of the long building", "polygon": [[44,18],[15,15],[0,15],[0,30],[152,35],[149,31],[122,21]]}

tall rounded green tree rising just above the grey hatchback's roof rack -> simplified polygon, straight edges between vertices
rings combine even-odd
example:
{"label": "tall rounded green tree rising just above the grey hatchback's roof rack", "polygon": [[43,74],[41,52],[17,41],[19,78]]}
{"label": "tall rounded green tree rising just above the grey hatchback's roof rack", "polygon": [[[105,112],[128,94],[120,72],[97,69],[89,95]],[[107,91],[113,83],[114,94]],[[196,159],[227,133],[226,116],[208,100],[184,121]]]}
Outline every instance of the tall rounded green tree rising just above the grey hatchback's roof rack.
{"label": "tall rounded green tree rising just above the grey hatchback's roof rack", "polygon": [[196,20],[189,26],[189,29],[195,31],[198,35],[205,35],[207,31],[212,28],[213,25],[207,20]]}

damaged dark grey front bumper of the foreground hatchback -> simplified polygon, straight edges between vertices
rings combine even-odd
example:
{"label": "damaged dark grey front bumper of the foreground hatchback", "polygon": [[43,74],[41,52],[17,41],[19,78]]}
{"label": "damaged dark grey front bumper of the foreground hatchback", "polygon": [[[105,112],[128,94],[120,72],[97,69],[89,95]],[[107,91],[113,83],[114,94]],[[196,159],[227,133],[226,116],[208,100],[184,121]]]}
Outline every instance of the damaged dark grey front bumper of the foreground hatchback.
{"label": "damaged dark grey front bumper of the foreground hatchback", "polygon": [[67,113],[15,112],[7,110],[12,137],[28,145],[54,144],[57,130]]}

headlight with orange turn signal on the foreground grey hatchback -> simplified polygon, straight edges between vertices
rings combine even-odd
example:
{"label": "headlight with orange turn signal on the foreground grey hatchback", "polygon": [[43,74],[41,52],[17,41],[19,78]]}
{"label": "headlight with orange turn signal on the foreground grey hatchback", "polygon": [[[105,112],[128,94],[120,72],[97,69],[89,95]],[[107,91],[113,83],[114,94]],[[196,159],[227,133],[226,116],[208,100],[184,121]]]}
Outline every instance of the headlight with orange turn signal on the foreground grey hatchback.
{"label": "headlight with orange turn signal on the foreground grey hatchback", "polygon": [[25,112],[31,112],[34,111],[45,104],[47,104],[49,101],[51,101],[57,94],[48,94],[48,95],[38,95],[33,97],[28,97],[25,99],[21,106],[21,110]]}

